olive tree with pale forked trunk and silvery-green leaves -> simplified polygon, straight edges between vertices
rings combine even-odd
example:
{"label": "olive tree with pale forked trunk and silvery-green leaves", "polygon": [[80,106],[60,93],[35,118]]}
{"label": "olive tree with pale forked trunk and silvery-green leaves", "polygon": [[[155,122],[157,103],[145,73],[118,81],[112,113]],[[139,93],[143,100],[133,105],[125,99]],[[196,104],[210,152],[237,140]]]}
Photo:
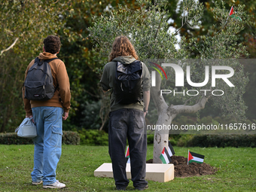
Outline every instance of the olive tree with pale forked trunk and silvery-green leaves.
{"label": "olive tree with pale forked trunk and silvery-green leaves", "polygon": [[[95,50],[99,52],[100,58],[107,62],[108,54],[111,51],[111,44],[118,35],[126,35],[133,43],[140,59],[146,63],[149,61],[157,62],[163,59],[163,62],[179,63],[179,67],[185,72],[187,66],[190,66],[190,81],[203,82],[206,73],[205,62],[191,61],[186,64],[187,59],[193,58],[190,50],[197,49],[200,57],[209,64],[208,66],[223,66],[222,59],[236,59],[245,56],[247,53],[245,47],[236,44],[236,33],[243,29],[243,22],[228,18],[229,11],[225,10],[224,3],[215,4],[212,13],[219,21],[221,30],[212,31],[211,34],[203,37],[203,43],[198,43],[197,39],[181,38],[177,41],[175,35],[183,26],[191,28],[200,26],[200,18],[203,17],[203,5],[194,0],[181,1],[179,9],[181,17],[181,28],[175,32],[169,32],[169,13],[166,11],[165,1],[142,1],[139,0],[141,7],[137,10],[130,10],[126,7],[119,7],[117,11],[112,11],[110,16],[102,15],[94,21],[94,26],[90,28],[90,37],[95,41]],[[242,11],[243,6],[236,8],[236,16],[245,18]],[[175,48],[178,44],[179,48]],[[207,60],[207,59],[212,59]],[[232,82],[235,87],[229,87],[226,82],[218,81],[218,89],[225,91],[225,95],[218,97],[211,94],[212,82],[209,81],[203,87],[193,87],[200,94],[197,96],[188,96],[178,94],[175,99],[182,105],[172,105],[171,101],[166,102],[166,98],[161,94],[161,87],[167,86],[161,76],[157,73],[154,87],[151,87],[151,99],[157,108],[158,120],[156,125],[170,125],[177,114],[196,113],[203,109],[209,99],[217,107],[221,107],[224,114],[231,114],[238,120],[245,119],[246,106],[242,100],[242,94],[245,92],[245,85],[248,79],[245,77],[242,66],[239,62],[225,62],[225,66],[230,66],[235,70],[235,76]],[[175,71],[165,69],[169,77],[175,77]],[[227,74],[221,70],[221,74]],[[231,78],[230,78],[231,80]],[[174,81],[174,78],[173,78]],[[187,81],[184,81],[187,84]],[[166,87],[165,87],[166,89]],[[184,86],[184,92],[188,87]],[[199,90],[210,90],[202,93]],[[154,133],[154,163],[161,163],[160,154],[163,147],[168,146],[169,130],[156,130]]]}

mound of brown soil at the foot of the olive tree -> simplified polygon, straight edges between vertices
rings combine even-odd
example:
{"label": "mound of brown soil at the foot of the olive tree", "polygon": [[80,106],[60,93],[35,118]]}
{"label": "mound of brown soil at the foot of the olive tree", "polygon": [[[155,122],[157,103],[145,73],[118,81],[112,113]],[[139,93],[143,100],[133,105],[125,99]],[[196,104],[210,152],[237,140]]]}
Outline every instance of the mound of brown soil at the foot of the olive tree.
{"label": "mound of brown soil at the foot of the olive tree", "polygon": [[[147,160],[147,163],[153,163],[153,160]],[[187,165],[187,158],[182,156],[172,156],[172,162],[174,165],[175,177],[192,177],[200,175],[212,175],[217,169],[206,163],[189,163]]]}

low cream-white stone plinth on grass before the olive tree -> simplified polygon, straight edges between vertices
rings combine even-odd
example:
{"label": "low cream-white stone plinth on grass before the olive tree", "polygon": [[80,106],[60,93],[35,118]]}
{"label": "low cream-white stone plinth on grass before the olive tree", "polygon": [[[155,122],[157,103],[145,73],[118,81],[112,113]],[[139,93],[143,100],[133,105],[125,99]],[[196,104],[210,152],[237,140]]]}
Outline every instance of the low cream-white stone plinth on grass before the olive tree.
{"label": "low cream-white stone plinth on grass before the olive tree", "polygon": [[[127,178],[131,178],[130,163],[126,166]],[[112,163],[103,163],[98,169],[94,171],[96,177],[108,177],[113,178]],[[146,164],[146,178],[148,181],[166,182],[171,181],[174,178],[174,166],[173,164],[158,164],[147,163]]]}

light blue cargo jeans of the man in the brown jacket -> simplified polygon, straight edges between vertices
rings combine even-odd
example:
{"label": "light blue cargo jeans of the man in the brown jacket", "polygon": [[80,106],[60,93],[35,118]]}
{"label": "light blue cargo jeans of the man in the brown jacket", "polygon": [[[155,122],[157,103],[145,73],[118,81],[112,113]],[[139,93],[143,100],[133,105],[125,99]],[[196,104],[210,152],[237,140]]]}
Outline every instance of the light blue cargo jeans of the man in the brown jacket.
{"label": "light blue cargo jeans of the man in the brown jacket", "polygon": [[56,182],[56,166],[62,146],[62,114],[58,107],[32,108],[38,136],[34,139],[34,169],[32,181],[44,181],[44,185]]}

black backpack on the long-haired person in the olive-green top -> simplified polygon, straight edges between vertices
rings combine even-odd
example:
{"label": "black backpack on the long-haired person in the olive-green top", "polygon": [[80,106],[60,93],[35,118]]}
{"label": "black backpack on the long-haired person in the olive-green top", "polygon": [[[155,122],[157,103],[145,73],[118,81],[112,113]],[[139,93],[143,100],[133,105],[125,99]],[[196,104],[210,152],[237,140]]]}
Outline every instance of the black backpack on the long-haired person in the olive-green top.
{"label": "black backpack on the long-haired person in the olive-green top", "polygon": [[113,85],[117,103],[128,105],[142,101],[142,84],[142,62],[136,60],[128,65],[117,62]]}

